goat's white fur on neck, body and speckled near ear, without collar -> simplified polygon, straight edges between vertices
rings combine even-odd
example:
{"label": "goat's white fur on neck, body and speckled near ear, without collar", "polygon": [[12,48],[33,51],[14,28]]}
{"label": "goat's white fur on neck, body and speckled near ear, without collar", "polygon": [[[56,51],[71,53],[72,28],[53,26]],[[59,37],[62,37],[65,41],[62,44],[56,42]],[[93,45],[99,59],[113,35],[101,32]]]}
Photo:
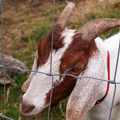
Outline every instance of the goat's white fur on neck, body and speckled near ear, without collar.
{"label": "goat's white fur on neck, body and speckled near ear, without collar", "polygon": [[[96,38],[96,45],[101,53],[100,55],[93,55],[88,62],[88,65],[84,71],[87,76],[93,76],[98,78],[107,79],[107,51],[110,53],[110,79],[114,79],[114,72],[116,66],[117,51],[119,46],[120,33],[103,41],[101,38]],[[96,52],[96,54],[98,51]],[[103,58],[103,60],[101,59]],[[103,64],[101,62],[103,62]],[[119,59],[120,62],[120,59]],[[105,68],[104,68],[105,67]],[[103,72],[104,71],[104,72]],[[120,82],[120,64],[118,65],[118,72],[116,81]],[[114,93],[114,85],[110,84],[110,89],[105,100],[95,105],[95,102],[105,95],[107,89],[107,83],[102,82],[97,88],[97,92],[92,94],[92,90],[96,84],[100,84],[100,81],[93,79],[78,79],[77,84],[72,91],[68,104],[67,104],[67,120],[81,120],[83,117],[82,111],[84,110],[85,116],[82,120],[107,120],[110,113],[111,103]],[[94,87],[93,87],[94,86]],[[98,95],[98,96],[97,96]],[[110,120],[120,119],[120,85],[117,85],[116,96],[113,104],[113,110]],[[73,105],[73,106],[72,106]],[[71,110],[72,106],[72,110]],[[72,111],[72,112],[71,112]]]}

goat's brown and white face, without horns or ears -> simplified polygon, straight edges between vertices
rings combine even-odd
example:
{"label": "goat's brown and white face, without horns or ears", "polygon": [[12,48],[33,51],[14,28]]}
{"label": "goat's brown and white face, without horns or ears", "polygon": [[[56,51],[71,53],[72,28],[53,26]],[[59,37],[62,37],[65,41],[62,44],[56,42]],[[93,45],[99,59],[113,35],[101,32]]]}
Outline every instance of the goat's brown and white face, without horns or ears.
{"label": "goat's brown and white face, without horns or ears", "polygon": [[[52,73],[78,76],[88,61],[89,43],[74,30],[62,30],[54,27],[52,51]],[[51,56],[51,31],[41,40],[36,53],[34,70],[49,73]],[[73,40],[74,39],[74,40]],[[78,42],[78,39],[79,42]],[[49,106],[52,77],[46,74],[32,73],[31,82],[23,95],[20,111],[23,116],[34,116]],[[30,81],[30,80],[27,81]],[[71,76],[54,76],[52,106],[67,97],[73,90],[76,79]],[[26,82],[25,82],[26,84]],[[25,85],[23,85],[25,88]]]}

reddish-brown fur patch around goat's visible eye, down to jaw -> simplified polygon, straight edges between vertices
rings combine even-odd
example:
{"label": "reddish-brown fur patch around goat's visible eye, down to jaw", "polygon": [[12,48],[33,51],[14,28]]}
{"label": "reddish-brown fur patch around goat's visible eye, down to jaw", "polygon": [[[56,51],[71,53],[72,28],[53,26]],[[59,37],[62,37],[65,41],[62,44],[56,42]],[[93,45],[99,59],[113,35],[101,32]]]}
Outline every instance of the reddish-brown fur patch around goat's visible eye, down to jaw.
{"label": "reddish-brown fur patch around goat's visible eye, down to jaw", "polygon": [[[82,35],[77,34],[73,39],[73,42],[61,58],[60,74],[68,73],[78,76],[85,69],[88,59],[92,56],[93,52],[97,50],[95,41],[89,43],[82,39]],[[54,83],[52,106],[69,96],[75,84],[76,78],[71,76],[65,76],[61,83]],[[49,103],[50,93],[51,90],[46,94],[45,104]]]}

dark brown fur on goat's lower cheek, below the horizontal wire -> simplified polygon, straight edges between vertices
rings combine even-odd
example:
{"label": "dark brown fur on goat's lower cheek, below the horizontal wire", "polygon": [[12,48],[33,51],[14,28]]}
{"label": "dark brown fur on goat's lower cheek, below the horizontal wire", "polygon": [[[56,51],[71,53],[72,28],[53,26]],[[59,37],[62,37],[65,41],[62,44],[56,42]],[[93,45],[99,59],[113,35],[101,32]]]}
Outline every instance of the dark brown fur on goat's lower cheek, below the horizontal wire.
{"label": "dark brown fur on goat's lower cheek, below the horizontal wire", "polygon": [[[64,81],[61,82],[60,85],[54,84],[51,106],[53,107],[58,105],[58,103],[61,100],[69,96],[75,84],[76,84],[76,79],[73,77],[71,79],[70,76],[66,76]],[[51,90],[49,91],[49,93],[46,94],[47,98],[45,104],[49,103],[50,95],[51,95]]]}

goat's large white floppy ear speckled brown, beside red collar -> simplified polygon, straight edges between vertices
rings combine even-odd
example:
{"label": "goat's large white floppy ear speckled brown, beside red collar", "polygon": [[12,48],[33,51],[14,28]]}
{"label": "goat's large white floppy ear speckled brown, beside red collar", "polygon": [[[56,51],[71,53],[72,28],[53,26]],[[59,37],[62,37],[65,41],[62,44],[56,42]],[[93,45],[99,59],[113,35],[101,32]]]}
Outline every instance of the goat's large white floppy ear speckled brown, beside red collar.
{"label": "goat's large white floppy ear speckled brown, beside red collar", "polygon": [[[101,69],[102,68],[102,69]],[[104,62],[100,52],[94,53],[89,59],[85,70],[80,76],[103,78]],[[66,108],[67,120],[81,120],[101,97],[102,81],[91,78],[79,78],[70,95]]]}

